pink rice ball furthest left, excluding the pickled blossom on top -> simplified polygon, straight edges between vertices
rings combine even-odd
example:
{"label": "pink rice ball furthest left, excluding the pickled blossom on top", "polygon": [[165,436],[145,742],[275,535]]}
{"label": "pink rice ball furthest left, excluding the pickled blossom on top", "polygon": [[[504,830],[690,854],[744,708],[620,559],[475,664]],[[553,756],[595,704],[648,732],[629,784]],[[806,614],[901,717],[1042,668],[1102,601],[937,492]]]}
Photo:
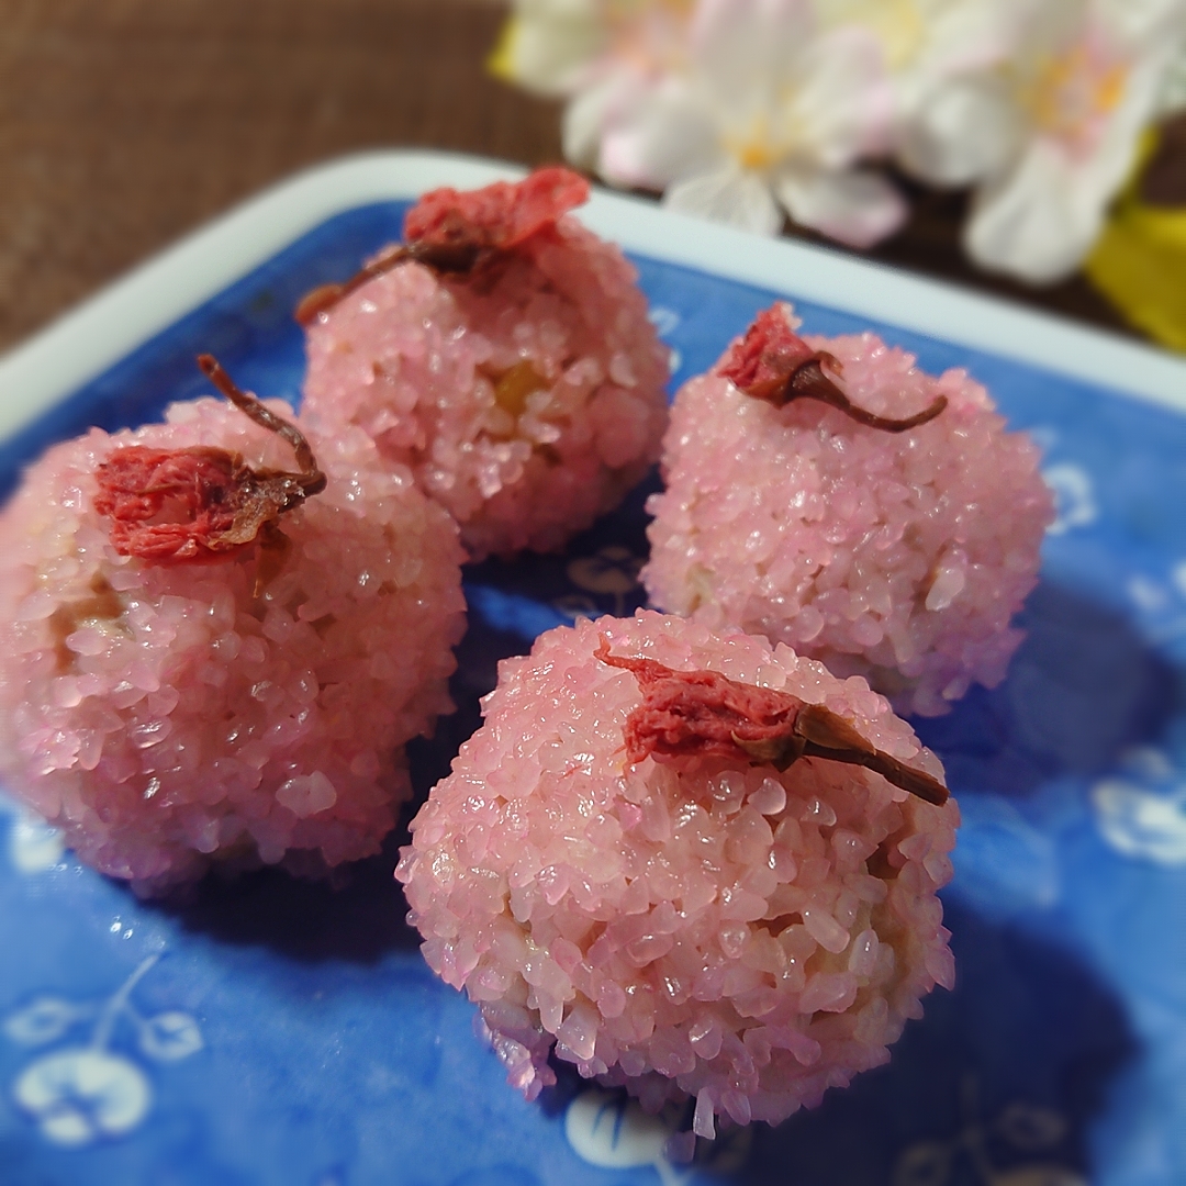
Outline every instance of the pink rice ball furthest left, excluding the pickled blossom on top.
{"label": "pink rice ball furthest left, excluding the pickled blossom on top", "polygon": [[255,598],[254,548],[116,553],[95,471],[132,444],[293,466],[282,441],[204,398],[165,425],[91,429],[30,468],[0,517],[5,785],[89,865],[148,892],[211,860],[288,854],[315,872],[377,852],[410,793],[400,747],[452,710],[455,524],[361,431],[312,436],[329,484],[283,516],[292,550]]}

